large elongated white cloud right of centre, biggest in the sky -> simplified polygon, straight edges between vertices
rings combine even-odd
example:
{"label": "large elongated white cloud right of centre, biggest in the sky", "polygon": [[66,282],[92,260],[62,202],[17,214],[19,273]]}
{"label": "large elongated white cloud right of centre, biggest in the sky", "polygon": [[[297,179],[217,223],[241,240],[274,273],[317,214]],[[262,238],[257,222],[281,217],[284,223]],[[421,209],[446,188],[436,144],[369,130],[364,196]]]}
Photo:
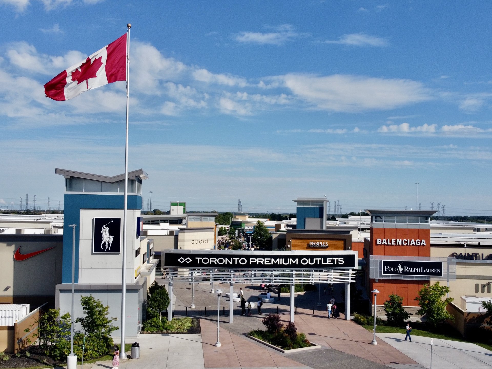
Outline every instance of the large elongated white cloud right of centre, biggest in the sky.
{"label": "large elongated white cloud right of centre, biggest in the sky", "polygon": [[334,112],[389,110],[430,100],[422,83],[351,75],[279,76],[284,85],[309,105]]}

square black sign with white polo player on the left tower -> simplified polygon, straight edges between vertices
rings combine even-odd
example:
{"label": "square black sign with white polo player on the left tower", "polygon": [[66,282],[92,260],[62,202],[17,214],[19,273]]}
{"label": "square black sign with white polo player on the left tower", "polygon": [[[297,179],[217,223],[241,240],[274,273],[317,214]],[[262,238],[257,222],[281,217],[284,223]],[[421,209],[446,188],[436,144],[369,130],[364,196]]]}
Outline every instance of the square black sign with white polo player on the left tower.
{"label": "square black sign with white polo player on the left tower", "polygon": [[121,218],[94,218],[93,254],[120,254]]}

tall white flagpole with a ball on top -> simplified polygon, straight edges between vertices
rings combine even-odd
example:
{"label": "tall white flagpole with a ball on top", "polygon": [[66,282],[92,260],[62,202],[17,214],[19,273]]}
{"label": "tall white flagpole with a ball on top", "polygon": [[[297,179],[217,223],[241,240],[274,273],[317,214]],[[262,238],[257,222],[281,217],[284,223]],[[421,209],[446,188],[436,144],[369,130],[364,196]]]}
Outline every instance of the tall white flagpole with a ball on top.
{"label": "tall white flagpole with a ball on top", "polygon": [[126,218],[128,213],[128,105],[130,102],[129,81],[130,81],[130,28],[126,28],[126,132],[124,143],[124,205],[123,205],[123,261],[122,261],[122,319],[121,319],[121,338],[120,338],[120,359],[126,359],[124,349],[124,328],[125,328],[125,304],[126,304]]}

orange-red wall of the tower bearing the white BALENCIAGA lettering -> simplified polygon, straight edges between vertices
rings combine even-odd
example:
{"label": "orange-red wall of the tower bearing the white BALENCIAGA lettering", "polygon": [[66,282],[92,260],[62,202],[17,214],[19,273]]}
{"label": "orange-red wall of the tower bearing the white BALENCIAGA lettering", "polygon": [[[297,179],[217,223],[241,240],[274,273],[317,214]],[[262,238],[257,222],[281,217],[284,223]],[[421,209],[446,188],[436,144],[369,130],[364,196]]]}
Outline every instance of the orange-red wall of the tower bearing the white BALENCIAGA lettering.
{"label": "orange-red wall of the tower bearing the white BALENCIAGA lettering", "polygon": [[[377,239],[410,239],[425,240],[425,246],[406,246],[406,245],[377,245]],[[410,229],[410,228],[370,228],[370,255],[395,255],[395,256],[431,256],[431,230],[430,229]],[[389,295],[396,293],[403,297],[404,306],[418,306],[415,301],[419,290],[429,281],[413,280],[390,280],[380,279],[378,282],[369,280],[369,291],[374,288],[379,290],[378,305],[382,305],[388,300]],[[371,303],[373,296],[371,294]]]}

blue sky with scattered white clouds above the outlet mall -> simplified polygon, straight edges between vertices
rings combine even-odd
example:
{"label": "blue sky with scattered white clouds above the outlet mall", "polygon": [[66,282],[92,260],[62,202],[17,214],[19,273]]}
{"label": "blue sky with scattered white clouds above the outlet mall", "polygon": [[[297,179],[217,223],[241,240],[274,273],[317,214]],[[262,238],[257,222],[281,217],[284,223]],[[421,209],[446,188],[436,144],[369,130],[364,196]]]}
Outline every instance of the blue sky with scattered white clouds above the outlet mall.
{"label": "blue sky with scattered white clouds above the outlet mall", "polygon": [[[124,171],[124,82],[43,85],[131,23],[129,169],[144,209],[492,215],[489,1],[0,0],[0,207],[63,201],[56,167]],[[62,205],[61,205],[62,206]]]}

